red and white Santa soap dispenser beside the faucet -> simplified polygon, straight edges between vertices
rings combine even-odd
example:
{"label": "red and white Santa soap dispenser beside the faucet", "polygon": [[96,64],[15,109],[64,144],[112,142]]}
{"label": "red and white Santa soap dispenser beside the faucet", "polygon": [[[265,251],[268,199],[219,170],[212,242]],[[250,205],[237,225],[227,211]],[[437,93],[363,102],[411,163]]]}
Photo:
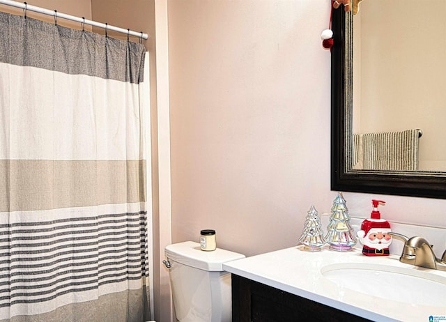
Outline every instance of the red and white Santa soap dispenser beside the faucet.
{"label": "red and white Santa soap dispenser beside the faucet", "polygon": [[357,232],[357,238],[363,245],[362,254],[366,256],[388,256],[389,246],[392,243],[392,236],[389,235],[390,224],[387,220],[381,219],[378,205],[385,204],[385,201],[372,200],[374,210],[370,219],[362,222],[361,230]]}

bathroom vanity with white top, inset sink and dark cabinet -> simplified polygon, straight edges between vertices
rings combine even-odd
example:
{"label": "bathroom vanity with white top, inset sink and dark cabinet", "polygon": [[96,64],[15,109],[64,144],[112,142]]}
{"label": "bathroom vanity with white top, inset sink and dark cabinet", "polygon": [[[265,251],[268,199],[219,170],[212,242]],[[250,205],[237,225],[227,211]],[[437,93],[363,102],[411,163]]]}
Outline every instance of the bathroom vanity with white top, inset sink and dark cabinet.
{"label": "bathroom vanity with white top, inset sink and dark cabinet", "polygon": [[392,254],[298,246],[223,268],[232,273],[233,322],[446,319],[446,272],[409,266]]}

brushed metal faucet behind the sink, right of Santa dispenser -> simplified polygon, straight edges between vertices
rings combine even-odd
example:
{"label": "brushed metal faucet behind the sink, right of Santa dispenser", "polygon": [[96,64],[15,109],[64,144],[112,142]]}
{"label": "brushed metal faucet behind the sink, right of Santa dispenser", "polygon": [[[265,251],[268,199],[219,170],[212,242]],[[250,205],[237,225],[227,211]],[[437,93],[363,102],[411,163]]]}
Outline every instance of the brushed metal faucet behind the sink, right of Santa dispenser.
{"label": "brushed metal faucet behind the sink, right of Santa dispenser", "polygon": [[441,259],[433,253],[431,245],[422,237],[407,238],[401,233],[390,232],[390,236],[404,243],[403,252],[399,261],[410,265],[432,268],[433,270],[446,270],[446,250]]}

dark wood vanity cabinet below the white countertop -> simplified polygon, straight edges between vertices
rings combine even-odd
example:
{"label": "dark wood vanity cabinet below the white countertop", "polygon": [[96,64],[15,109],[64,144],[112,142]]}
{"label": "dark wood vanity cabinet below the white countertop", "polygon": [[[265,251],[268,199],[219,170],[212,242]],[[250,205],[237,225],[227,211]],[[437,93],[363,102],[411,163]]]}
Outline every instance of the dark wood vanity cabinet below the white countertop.
{"label": "dark wood vanity cabinet below the white countertop", "polygon": [[233,322],[370,321],[232,274]]}

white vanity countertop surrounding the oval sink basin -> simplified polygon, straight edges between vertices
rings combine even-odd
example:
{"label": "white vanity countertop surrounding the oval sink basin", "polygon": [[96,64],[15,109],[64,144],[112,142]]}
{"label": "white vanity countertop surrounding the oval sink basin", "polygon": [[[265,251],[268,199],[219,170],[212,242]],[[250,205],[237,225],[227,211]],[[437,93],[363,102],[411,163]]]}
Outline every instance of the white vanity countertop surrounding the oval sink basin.
{"label": "white vanity countertop surrounding the oval sink basin", "polygon": [[[360,249],[336,252],[328,250],[328,246],[324,246],[321,252],[307,252],[303,250],[303,246],[291,247],[224,263],[223,268],[229,273],[372,321],[429,322],[429,316],[433,316],[433,321],[446,322],[446,302],[443,307],[436,307],[399,302],[398,298],[385,300],[338,286],[323,276],[321,270],[324,266],[343,263],[391,266],[395,270],[410,269],[414,273],[435,275],[434,277],[438,277],[442,282],[446,281],[446,271],[401,263],[399,256],[391,254],[371,257],[362,255]],[[382,285],[382,289],[383,292],[392,292],[392,289],[385,284]],[[420,290],[413,289],[413,292],[417,291],[420,292],[420,296],[423,296]]]}

